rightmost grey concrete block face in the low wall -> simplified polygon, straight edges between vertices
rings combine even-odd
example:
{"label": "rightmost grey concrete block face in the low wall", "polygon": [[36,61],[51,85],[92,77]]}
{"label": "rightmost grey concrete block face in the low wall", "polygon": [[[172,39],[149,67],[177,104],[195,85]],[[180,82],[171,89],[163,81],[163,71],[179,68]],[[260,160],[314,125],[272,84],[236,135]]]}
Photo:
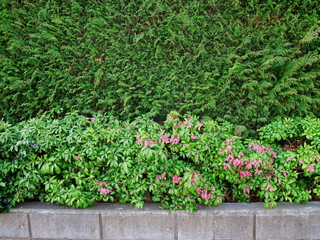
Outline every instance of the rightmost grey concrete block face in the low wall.
{"label": "rightmost grey concrete block face in the low wall", "polygon": [[320,239],[320,214],[258,214],[256,239]]}

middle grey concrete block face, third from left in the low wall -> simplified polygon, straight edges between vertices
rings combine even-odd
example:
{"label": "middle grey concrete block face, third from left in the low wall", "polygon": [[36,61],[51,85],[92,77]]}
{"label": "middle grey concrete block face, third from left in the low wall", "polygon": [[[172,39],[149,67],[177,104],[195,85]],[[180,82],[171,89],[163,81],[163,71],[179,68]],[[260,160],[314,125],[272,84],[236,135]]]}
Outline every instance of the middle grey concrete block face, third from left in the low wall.
{"label": "middle grey concrete block face, third from left in the low wall", "polygon": [[102,214],[103,239],[174,239],[173,215]]}

